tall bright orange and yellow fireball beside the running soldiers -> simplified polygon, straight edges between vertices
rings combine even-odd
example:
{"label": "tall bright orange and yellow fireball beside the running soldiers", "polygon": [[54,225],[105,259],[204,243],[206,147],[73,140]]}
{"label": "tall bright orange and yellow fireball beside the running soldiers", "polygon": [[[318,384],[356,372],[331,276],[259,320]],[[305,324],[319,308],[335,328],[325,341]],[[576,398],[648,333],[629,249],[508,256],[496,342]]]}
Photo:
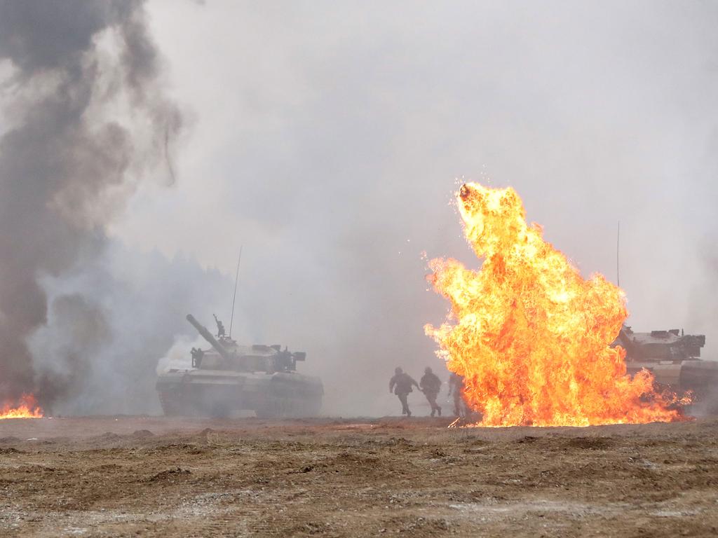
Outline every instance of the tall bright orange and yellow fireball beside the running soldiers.
{"label": "tall bright orange and yellow fireball beside the running soldiers", "polygon": [[516,191],[470,183],[457,193],[480,270],[429,262],[428,280],[451,302],[424,331],[447,367],[465,377],[467,405],[484,426],[587,426],[681,420],[653,376],[626,373],[610,347],[628,316],[625,295],[603,275],[584,280],[526,223]]}

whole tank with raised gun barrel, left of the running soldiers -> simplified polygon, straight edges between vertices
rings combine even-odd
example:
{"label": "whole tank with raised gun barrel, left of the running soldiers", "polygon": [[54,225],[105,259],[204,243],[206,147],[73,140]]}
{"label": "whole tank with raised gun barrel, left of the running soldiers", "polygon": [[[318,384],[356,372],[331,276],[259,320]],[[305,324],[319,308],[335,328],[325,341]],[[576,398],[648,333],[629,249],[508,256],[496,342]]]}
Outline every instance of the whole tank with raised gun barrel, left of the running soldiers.
{"label": "whole tank with raised gun barrel, left of the running soldiers", "polygon": [[191,314],[187,321],[210,344],[194,349],[192,367],[159,374],[157,392],[165,415],[226,417],[254,411],[258,417],[312,417],[322,407],[318,377],[297,372],[306,354],[279,345],[240,346],[224,336],[218,321],[215,338]]}

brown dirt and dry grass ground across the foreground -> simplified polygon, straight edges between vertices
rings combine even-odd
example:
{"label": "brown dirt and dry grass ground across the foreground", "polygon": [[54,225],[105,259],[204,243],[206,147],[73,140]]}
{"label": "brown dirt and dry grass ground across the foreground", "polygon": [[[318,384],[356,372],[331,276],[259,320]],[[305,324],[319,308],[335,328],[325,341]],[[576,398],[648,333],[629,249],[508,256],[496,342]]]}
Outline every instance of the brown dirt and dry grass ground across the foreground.
{"label": "brown dirt and dry grass ground across the foreground", "polygon": [[0,420],[0,536],[718,534],[718,420]]}

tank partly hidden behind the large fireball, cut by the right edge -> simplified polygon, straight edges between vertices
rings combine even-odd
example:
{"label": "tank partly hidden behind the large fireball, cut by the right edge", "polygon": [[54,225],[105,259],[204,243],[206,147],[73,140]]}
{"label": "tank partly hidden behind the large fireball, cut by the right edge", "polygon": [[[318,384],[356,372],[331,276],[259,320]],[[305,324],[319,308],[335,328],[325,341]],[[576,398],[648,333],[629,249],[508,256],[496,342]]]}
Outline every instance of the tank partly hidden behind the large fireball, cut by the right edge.
{"label": "tank partly hidden behind the large fireball, cut by the right edge", "polygon": [[706,344],[703,334],[683,334],[679,329],[638,333],[623,326],[613,343],[617,344],[626,350],[629,374],[648,369],[659,387],[678,395],[692,392],[689,412],[718,412],[718,362],[700,358]]}

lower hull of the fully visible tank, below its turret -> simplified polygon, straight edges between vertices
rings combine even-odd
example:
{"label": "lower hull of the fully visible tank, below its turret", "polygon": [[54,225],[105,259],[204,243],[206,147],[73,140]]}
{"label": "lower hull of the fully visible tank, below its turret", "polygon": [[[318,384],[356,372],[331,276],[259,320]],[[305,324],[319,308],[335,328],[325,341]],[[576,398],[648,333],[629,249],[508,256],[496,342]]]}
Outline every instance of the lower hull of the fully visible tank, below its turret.
{"label": "lower hull of the fully visible tank, below its turret", "polygon": [[322,382],[296,372],[169,370],[157,379],[165,415],[226,417],[254,411],[258,417],[312,417],[322,407]]}

